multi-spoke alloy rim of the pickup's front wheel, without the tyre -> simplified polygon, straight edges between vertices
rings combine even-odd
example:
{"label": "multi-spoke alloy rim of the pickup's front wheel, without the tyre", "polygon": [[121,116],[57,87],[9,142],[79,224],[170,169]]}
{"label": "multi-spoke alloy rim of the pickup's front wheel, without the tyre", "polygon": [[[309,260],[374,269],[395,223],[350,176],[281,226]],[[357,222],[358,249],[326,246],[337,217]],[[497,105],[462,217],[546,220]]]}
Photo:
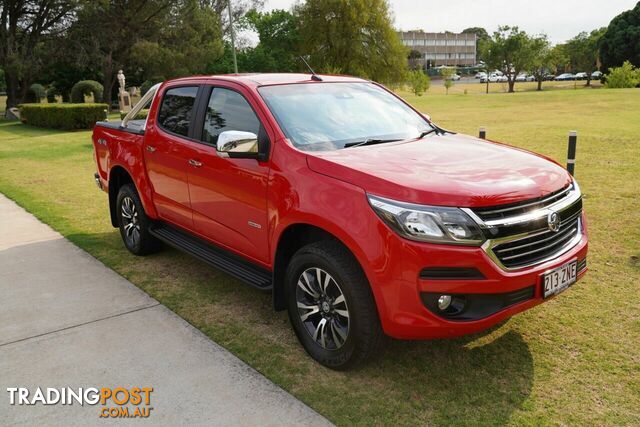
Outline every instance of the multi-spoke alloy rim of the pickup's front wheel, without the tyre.
{"label": "multi-spoke alloy rim of the pickup's front wheel, without the tyre", "polygon": [[336,280],[325,270],[302,272],[296,286],[298,315],[305,329],[325,350],[337,350],[349,335],[349,307]]}

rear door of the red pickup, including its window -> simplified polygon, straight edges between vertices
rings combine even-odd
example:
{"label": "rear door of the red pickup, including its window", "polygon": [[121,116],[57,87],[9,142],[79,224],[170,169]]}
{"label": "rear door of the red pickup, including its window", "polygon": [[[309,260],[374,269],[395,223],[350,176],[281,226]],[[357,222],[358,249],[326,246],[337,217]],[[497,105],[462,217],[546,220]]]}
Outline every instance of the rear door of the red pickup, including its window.
{"label": "rear door of the red pickup, including its window", "polygon": [[[159,96],[158,114],[145,134],[144,159],[158,215],[193,229],[187,168],[193,157],[193,135],[199,85],[169,87]],[[155,125],[154,125],[155,124]]]}

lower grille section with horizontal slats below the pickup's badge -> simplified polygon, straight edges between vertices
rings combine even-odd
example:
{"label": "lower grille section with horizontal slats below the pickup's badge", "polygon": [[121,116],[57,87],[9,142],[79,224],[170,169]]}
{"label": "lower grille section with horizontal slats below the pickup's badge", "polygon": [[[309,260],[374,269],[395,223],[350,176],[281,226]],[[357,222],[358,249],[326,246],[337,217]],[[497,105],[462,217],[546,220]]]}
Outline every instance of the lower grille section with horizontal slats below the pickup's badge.
{"label": "lower grille section with horizontal slats below the pickup's badge", "polygon": [[561,253],[573,244],[580,233],[580,212],[562,221],[560,231],[536,233],[522,239],[510,240],[493,247],[493,253],[507,268],[533,265]]}

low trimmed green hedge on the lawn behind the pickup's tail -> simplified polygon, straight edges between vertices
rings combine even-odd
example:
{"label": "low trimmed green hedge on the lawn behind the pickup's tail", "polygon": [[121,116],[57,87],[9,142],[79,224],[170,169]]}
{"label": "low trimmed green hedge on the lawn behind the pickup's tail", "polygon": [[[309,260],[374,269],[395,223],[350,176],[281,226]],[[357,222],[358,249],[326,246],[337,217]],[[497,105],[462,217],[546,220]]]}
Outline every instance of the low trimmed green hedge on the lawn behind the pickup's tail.
{"label": "low trimmed green hedge on the lawn behind the pickup's tail", "polygon": [[20,120],[53,129],[91,129],[107,118],[107,104],[22,104]]}

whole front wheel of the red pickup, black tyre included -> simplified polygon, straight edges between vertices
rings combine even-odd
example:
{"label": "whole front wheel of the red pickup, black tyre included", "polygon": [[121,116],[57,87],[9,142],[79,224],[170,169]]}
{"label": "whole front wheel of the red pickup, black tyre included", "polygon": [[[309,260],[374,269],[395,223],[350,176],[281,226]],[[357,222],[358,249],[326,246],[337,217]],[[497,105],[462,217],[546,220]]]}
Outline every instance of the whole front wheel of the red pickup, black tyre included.
{"label": "whole front wheel of the red pickup, black tyre included", "polygon": [[383,339],[369,283],[351,253],[322,241],[292,257],[285,275],[287,308],[307,353],[324,366],[362,364]]}

